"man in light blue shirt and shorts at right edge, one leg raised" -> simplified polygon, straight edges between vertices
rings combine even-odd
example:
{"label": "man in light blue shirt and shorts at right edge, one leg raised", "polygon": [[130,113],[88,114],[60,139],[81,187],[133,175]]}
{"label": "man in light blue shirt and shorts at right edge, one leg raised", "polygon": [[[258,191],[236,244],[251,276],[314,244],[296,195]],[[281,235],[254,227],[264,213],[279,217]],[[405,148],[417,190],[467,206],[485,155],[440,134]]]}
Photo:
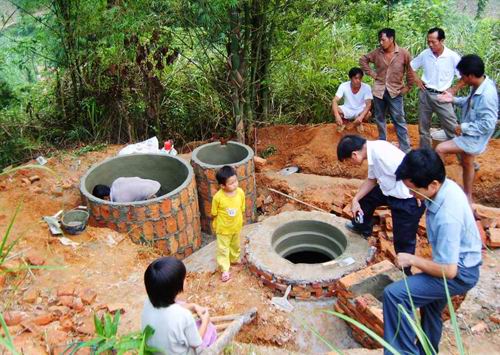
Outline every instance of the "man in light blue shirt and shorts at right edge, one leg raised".
{"label": "man in light blue shirt and shorts at right edge, one leg raised", "polygon": [[457,137],[440,143],[436,152],[441,159],[446,154],[459,154],[463,168],[464,192],[472,205],[472,185],[474,182],[474,157],[486,150],[488,141],[495,132],[498,119],[498,93],[495,83],[484,75],[484,63],[475,54],[460,60],[457,70],[462,81],[471,87],[467,97],[453,97],[449,92],[438,96],[442,102],[452,102],[462,109],[462,119],[455,127]]}

